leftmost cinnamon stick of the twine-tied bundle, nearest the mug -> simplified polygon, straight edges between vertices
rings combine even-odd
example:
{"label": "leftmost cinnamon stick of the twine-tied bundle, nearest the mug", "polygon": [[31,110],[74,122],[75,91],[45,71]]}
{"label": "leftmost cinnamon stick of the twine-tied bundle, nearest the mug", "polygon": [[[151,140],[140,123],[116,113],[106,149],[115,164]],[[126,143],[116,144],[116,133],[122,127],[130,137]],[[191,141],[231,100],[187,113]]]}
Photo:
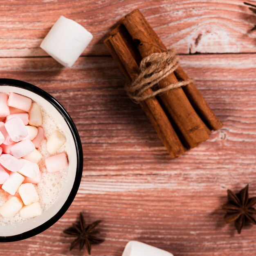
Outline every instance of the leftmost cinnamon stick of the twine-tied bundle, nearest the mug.
{"label": "leftmost cinnamon stick of the twine-tied bundle, nearest the mug", "polygon": [[[139,66],[130,51],[131,47],[128,48],[128,42],[121,36],[120,27],[115,29],[114,32],[112,36],[106,38],[104,43],[126,76],[126,79],[131,82],[136,77]],[[148,89],[144,93],[148,94],[150,92],[152,90]],[[142,101],[140,105],[171,157],[177,157],[183,154],[185,149],[157,99],[152,97]]]}

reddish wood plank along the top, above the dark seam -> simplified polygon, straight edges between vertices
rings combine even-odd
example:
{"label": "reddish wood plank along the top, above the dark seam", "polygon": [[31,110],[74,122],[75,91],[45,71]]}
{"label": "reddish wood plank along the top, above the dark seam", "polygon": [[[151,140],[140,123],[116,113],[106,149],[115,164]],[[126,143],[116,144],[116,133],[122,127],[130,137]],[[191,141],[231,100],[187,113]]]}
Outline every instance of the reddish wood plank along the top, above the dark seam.
{"label": "reddish wood plank along the top, above the dark seam", "polygon": [[256,52],[256,16],[242,0],[0,1],[0,57],[47,56],[39,48],[63,15],[94,34],[83,55],[108,55],[107,31],[126,13],[141,9],[167,47],[189,53]]}

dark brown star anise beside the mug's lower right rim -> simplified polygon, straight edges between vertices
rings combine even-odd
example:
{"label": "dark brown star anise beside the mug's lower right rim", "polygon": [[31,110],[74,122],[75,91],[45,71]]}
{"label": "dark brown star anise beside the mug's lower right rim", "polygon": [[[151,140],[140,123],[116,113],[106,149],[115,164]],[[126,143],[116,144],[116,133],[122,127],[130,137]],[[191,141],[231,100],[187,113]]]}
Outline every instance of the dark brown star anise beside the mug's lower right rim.
{"label": "dark brown star anise beside the mug's lower right rim", "polygon": [[92,224],[86,225],[83,218],[83,214],[80,212],[79,221],[72,224],[72,227],[65,229],[63,232],[70,236],[76,237],[76,239],[70,245],[70,251],[76,246],[79,245],[79,249],[82,250],[85,246],[88,254],[91,254],[91,247],[94,244],[100,244],[104,242],[104,239],[97,238],[99,230],[94,230],[101,220],[92,222]]}

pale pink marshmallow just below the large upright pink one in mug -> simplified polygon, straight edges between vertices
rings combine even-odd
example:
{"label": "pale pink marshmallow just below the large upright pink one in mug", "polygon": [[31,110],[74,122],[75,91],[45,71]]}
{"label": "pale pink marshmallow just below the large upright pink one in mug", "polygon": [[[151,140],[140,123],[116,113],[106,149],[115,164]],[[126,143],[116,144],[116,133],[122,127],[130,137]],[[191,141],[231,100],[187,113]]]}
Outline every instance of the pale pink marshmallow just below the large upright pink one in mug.
{"label": "pale pink marshmallow just below the large upright pink one in mug", "polygon": [[10,153],[16,158],[25,157],[35,151],[35,145],[29,139],[22,140],[10,148]]}

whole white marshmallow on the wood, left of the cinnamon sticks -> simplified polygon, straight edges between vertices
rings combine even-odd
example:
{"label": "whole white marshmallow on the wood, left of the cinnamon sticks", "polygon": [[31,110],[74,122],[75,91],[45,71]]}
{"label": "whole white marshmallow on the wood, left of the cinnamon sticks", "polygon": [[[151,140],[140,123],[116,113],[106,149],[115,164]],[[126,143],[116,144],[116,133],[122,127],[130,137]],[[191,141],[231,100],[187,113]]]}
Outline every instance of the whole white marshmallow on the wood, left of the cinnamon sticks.
{"label": "whole white marshmallow on the wood, left of the cinnamon sticks", "polygon": [[40,47],[61,65],[72,67],[92,37],[92,34],[80,24],[61,16]]}

